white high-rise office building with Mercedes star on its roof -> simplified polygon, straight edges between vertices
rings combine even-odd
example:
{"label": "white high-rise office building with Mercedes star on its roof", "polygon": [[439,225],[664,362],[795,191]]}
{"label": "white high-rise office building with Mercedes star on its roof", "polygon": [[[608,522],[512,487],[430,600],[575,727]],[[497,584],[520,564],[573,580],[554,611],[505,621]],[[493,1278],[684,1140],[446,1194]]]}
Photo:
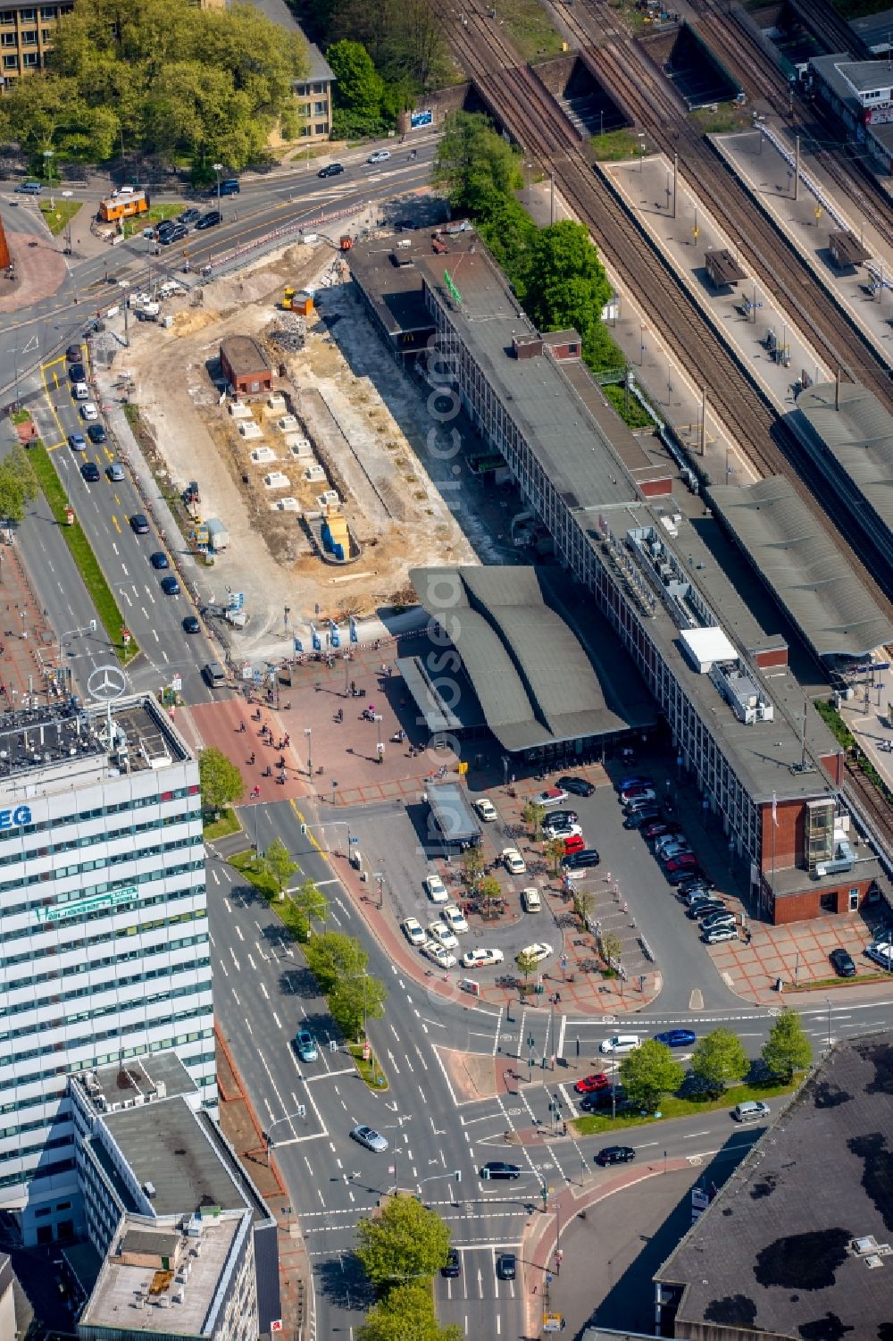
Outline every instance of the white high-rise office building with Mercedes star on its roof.
{"label": "white high-rise office building with Mercedes star on its roof", "polygon": [[7,713],[0,1214],[25,1243],[83,1227],[67,1075],[166,1049],[215,1112],[198,763],[150,697]]}

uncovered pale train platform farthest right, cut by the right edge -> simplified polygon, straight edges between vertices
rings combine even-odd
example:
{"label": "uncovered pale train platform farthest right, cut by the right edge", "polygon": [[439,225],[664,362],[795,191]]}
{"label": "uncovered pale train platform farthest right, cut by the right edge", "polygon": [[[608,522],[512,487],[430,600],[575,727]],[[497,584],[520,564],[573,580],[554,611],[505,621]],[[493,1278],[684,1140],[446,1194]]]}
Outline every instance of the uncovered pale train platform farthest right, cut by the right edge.
{"label": "uncovered pale train platform farthest right, cut by the right edge", "polygon": [[888,243],[849,201],[841,204],[834,185],[806,149],[794,198],[794,141],[779,127],[716,135],[713,143],[822,288],[881,358],[889,361],[893,252]]}

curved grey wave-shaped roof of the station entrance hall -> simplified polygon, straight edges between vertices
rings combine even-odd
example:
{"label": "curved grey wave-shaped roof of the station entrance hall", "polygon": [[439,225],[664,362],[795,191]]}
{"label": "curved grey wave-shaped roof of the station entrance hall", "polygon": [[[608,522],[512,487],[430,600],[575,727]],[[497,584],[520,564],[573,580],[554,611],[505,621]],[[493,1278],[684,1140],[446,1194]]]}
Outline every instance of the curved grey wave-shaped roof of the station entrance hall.
{"label": "curved grey wave-shaped roof of the station entrance hall", "polygon": [[410,579],[463,658],[504,750],[618,730],[591,661],[546,603],[535,569],[416,569]]}

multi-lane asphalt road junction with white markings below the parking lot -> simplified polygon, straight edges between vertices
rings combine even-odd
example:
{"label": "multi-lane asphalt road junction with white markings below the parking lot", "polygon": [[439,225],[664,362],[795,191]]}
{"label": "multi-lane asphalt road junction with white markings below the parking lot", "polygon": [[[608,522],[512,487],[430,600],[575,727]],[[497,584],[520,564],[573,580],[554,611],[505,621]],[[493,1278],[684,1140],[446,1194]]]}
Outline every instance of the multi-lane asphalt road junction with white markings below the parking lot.
{"label": "multi-lane asphalt road junction with white markings below the parking lot", "polygon": [[[735,1030],[750,1055],[756,1057],[771,1027],[768,1011],[739,1007],[735,1011],[668,1016],[658,1010],[634,1015],[610,1029],[602,1021],[558,1016],[538,1010],[515,1012],[463,1006],[429,996],[425,986],[397,971],[365,929],[349,897],[310,839],[300,833],[300,818],[287,803],[252,807],[248,841],[267,846],[280,837],[300,870],[294,881],[316,880],[331,900],[330,925],[358,936],[369,952],[369,971],[389,988],[388,1014],[373,1021],[369,1034],[375,1054],[388,1071],[390,1088],[375,1094],[357,1075],[343,1051],[329,1051],[339,1039],[315,994],[300,960],[282,935],[278,920],[249,886],[225,862],[209,862],[209,917],[215,949],[215,1007],[232,1047],[261,1124],[271,1132],[276,1160],[288,1185],[306,1235],[315,1285],[316,1334],[349,1334],[361,1321],[367,1297],[351,1257],[355,1227],[371,1214],[389,1188],[418,1192],[449,1224],[460,1250],[459,1279],[437,1282],[441,1321],[455,1321],[469,1337],[523,1334],[520,1282],[500,1282],[495,1257],[504,1250],[520,1255],[524,1230],[531,1220],[527,1207],[542,1206],[564,1185],[590,1187],[610,1179],[597,1169],[594,1153],[609,1137],[558,1140],[552,1144],[507,1145],[505,1132],[552,1124],[550,1102],[558,1100],[559,1116],[575,1112],[573,1080],[579,1062],[585,1069],[605,1063],[598,1043],[614,1027],[642,1037],[688,1025],[705,1031],[716,1025]],[[802,1011],[807,1033],[818,1051],[830,1037],[842,1038],[868,1029],[888,1027],[893,1000],[865,1006],[826,1007]],[[306,1023],[322,1042],[320,1059],[302,1065],[291,1046],[296,1029]],[[555,1039],[555,1070],[542,1058]],[[534,1039],[530,1049],[528,1039]],[[479,1101],[463,1101],[444,1065],[449,1049],[504,1057],[505,1071],[520,1075],[510,1093]],[[538,1067],[528,1070],[528,1051]],[[519,1057],[520,1054],[520,1057]],[[681,1053],[684,1061],[688,1054]],[[610,1063],[609,1063],[610,1069]],[[532,1074],[534,1084],[528,1082]],[[538,1080],[539,1078],[539,1080]],[[774,1105],[772,1105],[774,1106]],[[303,1109],[303,1114],[302,1110]],[[386,1155],[375,1156],[354,1144],[349,1132],[357,1122],[377,1128],[390,1143]],[[721,1152],[737,1160],[760,1134],[759,1128],[737,1128],[728,1110],[711,1112],[660,1126],[626,1130],[623,1141],[637,1157],[704,1160]],[[477,1169],[491,1159],[508,1159],[522,1168],[516,1181],[481,1181]],[[461,1181],[455,1180],[461,1173]],[[534,1211],[534,1216],[540,1214]],[[341,1330],[339,1330],[341,1329]]]}

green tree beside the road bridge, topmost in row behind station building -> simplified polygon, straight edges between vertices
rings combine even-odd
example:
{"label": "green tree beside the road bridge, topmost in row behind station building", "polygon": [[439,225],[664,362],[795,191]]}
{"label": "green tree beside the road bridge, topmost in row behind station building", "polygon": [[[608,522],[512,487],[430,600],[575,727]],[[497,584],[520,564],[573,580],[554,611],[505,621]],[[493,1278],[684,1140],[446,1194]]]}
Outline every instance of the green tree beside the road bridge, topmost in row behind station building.
{"label": "green tree beside the road bridge, topmost in row behind station building", "polygon": [[488,117],[452,111],[437,146],[432,181],[455,211],[487,215],[524,184],[519,154]]}

